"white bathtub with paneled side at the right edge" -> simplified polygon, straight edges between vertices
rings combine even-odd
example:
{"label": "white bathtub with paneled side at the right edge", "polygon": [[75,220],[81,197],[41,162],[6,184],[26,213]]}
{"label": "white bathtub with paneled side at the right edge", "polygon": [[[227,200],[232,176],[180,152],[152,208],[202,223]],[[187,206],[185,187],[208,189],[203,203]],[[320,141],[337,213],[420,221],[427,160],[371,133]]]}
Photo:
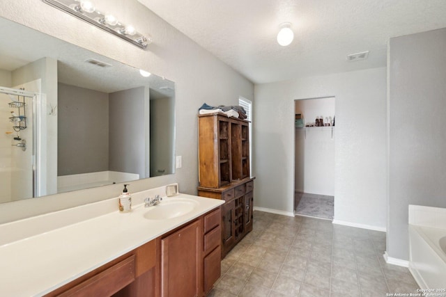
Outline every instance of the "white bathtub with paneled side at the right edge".
{"label": "white bathtub with paneled side at the right edge", "polygon": [[[426,209],[422,212],[429,216]],[[431,213],[431,222],[424,219],[422,225],[415,225],[416,220],[410,222],[409,215],[409,270],[421,289],[444,290],[431,292],[442,293],[439,296],[446,296],[446,228],[443,228],[443,213],[444,209],[440,215],[438,211]]]}

